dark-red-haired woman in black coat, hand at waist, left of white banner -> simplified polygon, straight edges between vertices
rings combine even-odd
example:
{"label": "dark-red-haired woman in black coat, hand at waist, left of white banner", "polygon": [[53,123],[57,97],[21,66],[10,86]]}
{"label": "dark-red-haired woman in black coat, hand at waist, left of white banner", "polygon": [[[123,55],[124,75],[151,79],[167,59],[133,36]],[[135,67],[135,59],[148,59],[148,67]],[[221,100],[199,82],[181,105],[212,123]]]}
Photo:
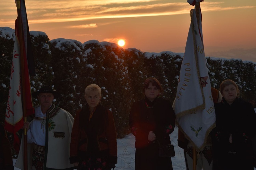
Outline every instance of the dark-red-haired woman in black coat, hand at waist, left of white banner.
{"label": "dark-red-haired woman in black coat, hand at waist, left of white banner", "polygon": [[172,104],[159,96],[162,91],[157,79],[148,78],[144,99],[132,105],[129,124],[136,137],[135,170],[172,170],[171,157],[159,157],[159,143],[171,143],[175,126]]}

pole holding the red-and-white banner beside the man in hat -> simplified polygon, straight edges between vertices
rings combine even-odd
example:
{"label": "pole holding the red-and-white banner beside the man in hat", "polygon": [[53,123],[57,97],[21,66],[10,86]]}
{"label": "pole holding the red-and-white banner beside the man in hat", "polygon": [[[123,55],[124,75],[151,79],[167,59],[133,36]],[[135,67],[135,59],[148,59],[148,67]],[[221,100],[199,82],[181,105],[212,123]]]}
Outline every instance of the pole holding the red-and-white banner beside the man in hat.
{"label": "pole holding the red-and-white banner beside the man in hat", "polygon": [[[24,50],[24,40],[23,40],[23,37],[24,37],[24,30],[23,30],[23,23],[22,23],[22,14],[21,14],[21,9],[20,9],[20,0],[17,0],[17,12],[18,12],[18,17],[17,17],[17,20],[18,20],[18,29],[19,29],[19,35],[18,35],[18,39],[19,39],[19,47],[20,47],[20,72],[21,72],[21,80],[22,80],[22,90],[21,91],[21,94],[22,94],[22,108],[23,108],[23,119],[24,119],[24,122],[27,121],[27,109],[26,109],[26,96],[25,96],[25,69],[24,69],[24,57],[26,57],[26,55],[24,55],[24,53],[26,53],[26,51]],[[23,130],[23,133],[24,133],[24,136],[23,136],[23,140],[24,140],[24,170],[27,170],[28,169],[28,147],[27,147],[27,129],[25,128]]]}

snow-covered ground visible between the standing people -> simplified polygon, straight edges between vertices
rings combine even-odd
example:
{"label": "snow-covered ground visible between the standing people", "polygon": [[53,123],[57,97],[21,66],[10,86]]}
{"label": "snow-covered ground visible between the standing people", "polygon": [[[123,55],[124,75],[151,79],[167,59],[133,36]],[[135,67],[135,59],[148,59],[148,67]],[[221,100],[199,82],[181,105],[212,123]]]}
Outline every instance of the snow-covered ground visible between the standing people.
{"label": "snow-covered ground visible between the standing people", "polygon": [[[171,142],[174,145],[175,157],[172,157],[173,170],[185,170],[185,158],[183,149],[177,146],[178,128],[175,127],[174,132],[170,135]],[[117,157],[118,162],[115,170],[134,170],[135,161],[135,137],[132,134],[127,135],[123,139],[117,139]],[[16,159],[13,159],[16,162]],[[19,170],[14,168],[14,170]],[[256,170],[256,168],[254,168]]]}

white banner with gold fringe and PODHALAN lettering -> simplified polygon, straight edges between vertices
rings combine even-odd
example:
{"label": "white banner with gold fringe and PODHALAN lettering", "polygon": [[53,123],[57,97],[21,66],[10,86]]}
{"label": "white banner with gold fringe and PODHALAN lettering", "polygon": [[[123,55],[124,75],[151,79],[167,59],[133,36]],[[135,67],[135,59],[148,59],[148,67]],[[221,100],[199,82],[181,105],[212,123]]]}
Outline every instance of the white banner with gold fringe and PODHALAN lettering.
{"label": "white banner with gold fringe and PODHALAN lettering", "polygon": [[215,110],[204,55],[200,5],[196,7],[198,18],[196,9],[190,11],[191,23],[173,108],[179,129],[200,151],[215,127]]}

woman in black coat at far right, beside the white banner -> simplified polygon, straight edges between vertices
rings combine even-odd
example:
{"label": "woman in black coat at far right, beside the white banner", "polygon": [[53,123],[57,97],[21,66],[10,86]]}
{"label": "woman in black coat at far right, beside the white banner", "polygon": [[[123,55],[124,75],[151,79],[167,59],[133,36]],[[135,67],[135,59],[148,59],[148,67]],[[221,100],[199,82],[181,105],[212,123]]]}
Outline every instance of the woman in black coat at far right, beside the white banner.
{"label": "woman in black coat at far right, beside the white banner", "polygon": [[223,98],[215,104],[216,128],[211,132],[213,170],[253,170],[254,108],[238,97],[238,86],[232,80],[223,81],[220,91]]}

